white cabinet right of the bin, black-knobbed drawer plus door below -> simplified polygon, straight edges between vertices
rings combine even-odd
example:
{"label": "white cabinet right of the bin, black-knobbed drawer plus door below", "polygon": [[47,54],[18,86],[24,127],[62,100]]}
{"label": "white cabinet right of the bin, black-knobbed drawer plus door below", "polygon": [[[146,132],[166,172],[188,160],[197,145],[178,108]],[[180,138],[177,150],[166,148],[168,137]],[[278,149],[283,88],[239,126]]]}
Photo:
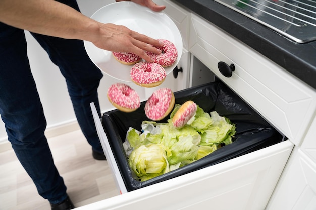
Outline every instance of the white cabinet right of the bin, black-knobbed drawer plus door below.
{"label": "white cabinet right of the bin, black-knobbed drawer plus door below", "polygon": [[[296,145],[267,209],[316,209],[316,91],[194,14],[189,51]],[[235,65],[232,77],[219,61]]]}

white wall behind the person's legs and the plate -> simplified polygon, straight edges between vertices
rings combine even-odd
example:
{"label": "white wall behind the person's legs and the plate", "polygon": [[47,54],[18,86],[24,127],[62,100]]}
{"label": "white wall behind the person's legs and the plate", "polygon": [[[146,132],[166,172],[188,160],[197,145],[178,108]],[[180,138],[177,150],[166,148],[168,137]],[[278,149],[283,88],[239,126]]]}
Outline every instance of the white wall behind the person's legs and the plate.
{"label": "white wall behind the person's legs and the plate", "polygon": [[[96,10],[104,5],[114,3],[115,0],[78,0],[81,12],[90,17]],[[54,130],[65,125],[74,124],[76,118],[72,104],[66,88],[64,77],[61,75],[59,68],[54,65],[47,53],[40,47],[36,40],[29,32],[26,32],[28,43],[28,55],[37,89],[44,107],[47,120],[47,130]],[[104,75],[99,86],[99,100],[101,110],[105,111],[113,108],[107,99],[108,87],[117,80],[108,75]],[[140,95],[144,95],[144,88],[131,85]],[[142,98],[144,100],[144,98]],[[4,123],[0,120],[0,143],[7,142],[7,133]]]}

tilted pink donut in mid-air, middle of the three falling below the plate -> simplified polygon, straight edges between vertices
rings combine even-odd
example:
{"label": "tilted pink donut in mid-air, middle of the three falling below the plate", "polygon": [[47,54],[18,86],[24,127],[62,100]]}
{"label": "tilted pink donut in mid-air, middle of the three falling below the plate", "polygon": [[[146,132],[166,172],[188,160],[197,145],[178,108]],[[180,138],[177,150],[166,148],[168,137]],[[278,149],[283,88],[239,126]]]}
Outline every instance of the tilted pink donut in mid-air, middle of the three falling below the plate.
{"label": "tilted pink donut in mid-air, middle of the three falling below the plate", "polygon": [[145,104],[146,116],[154,121],[164,119],[175,105],[175,96],[169,88],[160,88],[152,93]]}

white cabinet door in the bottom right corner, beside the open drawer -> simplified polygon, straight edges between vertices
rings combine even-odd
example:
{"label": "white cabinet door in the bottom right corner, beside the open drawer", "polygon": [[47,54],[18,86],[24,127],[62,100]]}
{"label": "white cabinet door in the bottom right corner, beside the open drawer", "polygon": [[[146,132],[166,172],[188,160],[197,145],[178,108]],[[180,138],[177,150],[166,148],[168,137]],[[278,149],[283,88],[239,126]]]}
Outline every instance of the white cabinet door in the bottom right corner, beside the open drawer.
{"label": "white cabinet door in the bottom right corner, beside the open drawer", "polygon": [[267,210],[316,209],[316,119],[287,163]]}

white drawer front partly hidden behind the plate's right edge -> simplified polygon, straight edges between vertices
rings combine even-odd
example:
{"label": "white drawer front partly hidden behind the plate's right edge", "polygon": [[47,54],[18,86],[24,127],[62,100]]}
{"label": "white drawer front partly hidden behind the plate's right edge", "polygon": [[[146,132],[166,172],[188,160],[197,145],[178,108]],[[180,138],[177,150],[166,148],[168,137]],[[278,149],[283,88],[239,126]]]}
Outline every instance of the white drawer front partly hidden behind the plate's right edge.
{"label": "white drawer front partly hidden behind the plate's right edge", "polygon": [[190,13],[167,0],[156,0],[154,2],[158,5],[166,6],[163,12],[176,24],[182,36],[183,48],[188,49]]}

